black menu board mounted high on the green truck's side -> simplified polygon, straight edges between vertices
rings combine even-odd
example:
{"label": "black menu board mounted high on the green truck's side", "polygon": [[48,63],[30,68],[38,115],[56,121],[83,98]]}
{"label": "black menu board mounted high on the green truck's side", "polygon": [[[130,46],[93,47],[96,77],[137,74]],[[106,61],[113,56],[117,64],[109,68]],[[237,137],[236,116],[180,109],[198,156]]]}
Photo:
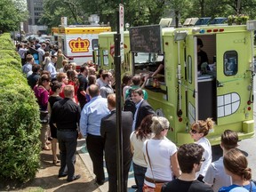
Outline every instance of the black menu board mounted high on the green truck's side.
{"label": "black menu board mounted high on the green truck's side", "polygon": [[131,52],[162,53],[160,25],[129,28]]}

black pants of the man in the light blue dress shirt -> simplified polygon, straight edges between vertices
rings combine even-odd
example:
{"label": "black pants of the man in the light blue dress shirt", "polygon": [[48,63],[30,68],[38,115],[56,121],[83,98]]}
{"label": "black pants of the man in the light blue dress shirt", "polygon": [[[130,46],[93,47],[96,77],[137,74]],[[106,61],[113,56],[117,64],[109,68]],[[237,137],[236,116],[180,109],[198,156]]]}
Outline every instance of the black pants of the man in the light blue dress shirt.
{"label": "black pants of the man in the light blue dress shirt", "polygon": [[97,181],[100,182],[101,180],[105,180],[103,169],[103,138],[101,136],[88,134],[86,139],[86,146],[92,159],[93,173],[96,175]]}

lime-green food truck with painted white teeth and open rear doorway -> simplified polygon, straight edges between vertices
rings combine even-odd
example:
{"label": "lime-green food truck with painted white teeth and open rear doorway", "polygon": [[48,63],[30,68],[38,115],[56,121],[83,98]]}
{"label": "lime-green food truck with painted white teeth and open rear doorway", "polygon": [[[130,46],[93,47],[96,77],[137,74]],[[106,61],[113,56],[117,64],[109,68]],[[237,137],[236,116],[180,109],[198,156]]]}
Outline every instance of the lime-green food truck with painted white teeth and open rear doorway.
{"label": "lime-green food truck with painted white teeth and open rear doorway", "polygon": [[[124,44],[129,44],[126,53],[130,54],[128,61],[132,65],[126,72],[151,76],[159,65],[164,66],[149,78],[145,89],[157,115],[170,121],[168,138],[178,146],[193,142],[191,124],[207,117],[215,122],[207,135],[212,145],[220,143],[220,134],[226,129],[236,131],[240,140],[253,136],[255,28],[255,21],[247,21],[247,25],[239,26],[151,25],[129,29],[130,44],[125,39]],[[208,58],[203,63],[197,42],[202,43],[201,49]],[[109,52],[109,47],[104,49]],[[102,60],[101,56],[108,52],[101,52],[100,48]]]}

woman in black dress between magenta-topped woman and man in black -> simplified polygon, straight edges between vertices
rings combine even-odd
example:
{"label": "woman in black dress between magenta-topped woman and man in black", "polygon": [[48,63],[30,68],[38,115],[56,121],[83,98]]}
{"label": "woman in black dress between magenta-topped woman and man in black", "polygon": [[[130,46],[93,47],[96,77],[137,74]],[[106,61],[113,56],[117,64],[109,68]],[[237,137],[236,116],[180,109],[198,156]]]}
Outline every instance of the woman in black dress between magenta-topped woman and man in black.
{"label": "woman in black dress between magenta-topped woman and man in black", "polygon": [[[48,112],[49,115],[51,116],[52,113],[52,107],[54,105],[55,102],[62,100],[62,98],[60,97],[60,92],[62,92],[62,86],[61,83],[59,81],[53,81],[51,84],[51,89],[53,94],[49,97],[48,99]],[[58,157],[57,157],[57,127],[54,126],[54,124],[52,124],[52,119],[50,118],[50,131],[51,131],[51,137],[52,137],[52,157],[53,157],[53,161],[52,164],[58,164],[60,163]]]}

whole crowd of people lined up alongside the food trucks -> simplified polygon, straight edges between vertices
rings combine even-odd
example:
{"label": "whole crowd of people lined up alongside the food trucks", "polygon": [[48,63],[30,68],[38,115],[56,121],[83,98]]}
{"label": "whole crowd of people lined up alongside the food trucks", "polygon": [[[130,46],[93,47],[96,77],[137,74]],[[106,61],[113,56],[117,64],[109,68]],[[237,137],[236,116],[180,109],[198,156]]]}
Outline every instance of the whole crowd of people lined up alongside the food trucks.
{"label": "whole crowd of people lined up alongside the food trucks", "polygon": [[[75,174],[74,164],[77,139],[84,138],[92,159],[95,183],[102,185],[106,181],[105,158],[108,191],[117,191],[115,74],[102,69],[97,74],[92,61],[84,63],[77,73],[76,64],[68,62],[61,50],[52,52],[51,47],[47,50],[47,44],[37,42],[33,46],[38,52],[44,51],[44,55],[35,63],[28,45],[22,44],[18,50],[21,70],[40,108],[41,147],[52,149],[52,164],[60,164],[58,177],[67,177],[68,181],[81,177]],[[220,144],[223,156],[216,162],[212,162],[211,144],[205,137],[213,129],[211,118],[192,124],[189,133],[195,143],[177,148],[166,137],[170,123],[165,117],[156,116],[143,87],[140,76],[124,75],[122,191],[127,191],[132,164],[136,183],[132,188],[137,192],[226,192],[235,189],[256,192],[246,157],[236,149],[236,132],[223,132]],[[52,148],[49,147],[51,142]]]}

